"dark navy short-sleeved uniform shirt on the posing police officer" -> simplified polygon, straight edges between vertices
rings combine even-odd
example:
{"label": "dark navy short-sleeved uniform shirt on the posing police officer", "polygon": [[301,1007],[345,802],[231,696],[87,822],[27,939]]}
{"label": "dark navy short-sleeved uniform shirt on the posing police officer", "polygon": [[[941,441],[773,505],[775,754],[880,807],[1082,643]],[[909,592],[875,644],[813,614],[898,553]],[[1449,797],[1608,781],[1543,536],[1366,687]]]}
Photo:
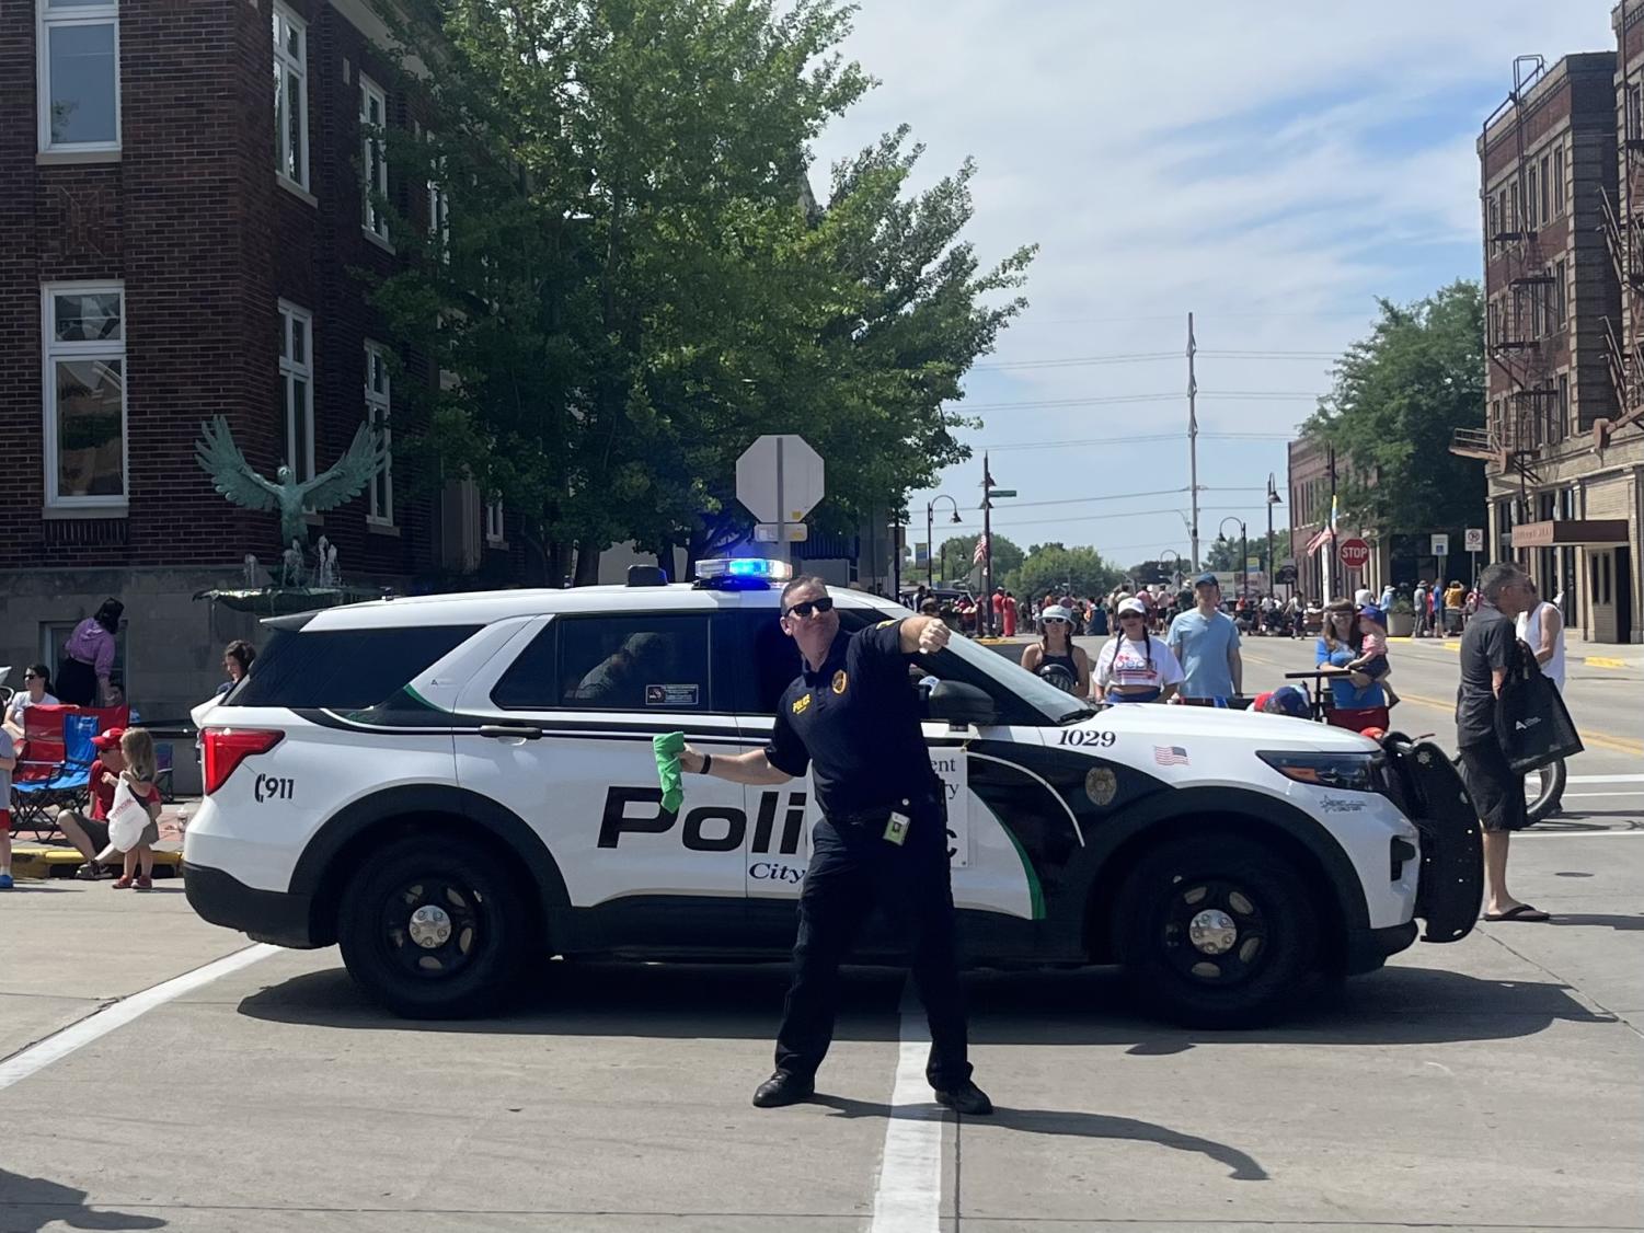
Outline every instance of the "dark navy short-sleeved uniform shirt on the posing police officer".
{"label": "dark navy short-sleeved uniform shirt on the posing police officer", "polygon": [[901,621],[842,630],[822,666],[807,664],[776,704],[764,756],[794,778],[809,766],[827,817],[942,799],[901,638]]}

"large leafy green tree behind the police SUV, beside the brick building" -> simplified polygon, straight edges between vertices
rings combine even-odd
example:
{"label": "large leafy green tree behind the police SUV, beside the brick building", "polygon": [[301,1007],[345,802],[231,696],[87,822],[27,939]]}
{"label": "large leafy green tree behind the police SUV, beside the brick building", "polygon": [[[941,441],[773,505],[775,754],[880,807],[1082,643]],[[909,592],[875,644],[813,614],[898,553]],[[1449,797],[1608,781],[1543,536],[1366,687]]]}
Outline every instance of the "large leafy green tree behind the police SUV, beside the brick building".
{"label": "large leafy green tree behind the police SUV, beside the brick building", "polygon": [[[909,194],[906,128],[809,187],[809,146],[870,79],[838,0],[429,0],[395,18],[421,133],[390,135],[449,227],[396,214],[413,255],[376,289],[447,373],[423,470],[472,477],[539,538],[694,556],[748,533],[735,460],[802,432],[824,529],[899,510],[967,450],[947,403],[1023,307],[1031,250],[983,270],[965,163]],[[419,199],[418,194],[409,194]],[[386,202],[393,206],[393,202]],[[408,383],[416,386],[419,383]]]}

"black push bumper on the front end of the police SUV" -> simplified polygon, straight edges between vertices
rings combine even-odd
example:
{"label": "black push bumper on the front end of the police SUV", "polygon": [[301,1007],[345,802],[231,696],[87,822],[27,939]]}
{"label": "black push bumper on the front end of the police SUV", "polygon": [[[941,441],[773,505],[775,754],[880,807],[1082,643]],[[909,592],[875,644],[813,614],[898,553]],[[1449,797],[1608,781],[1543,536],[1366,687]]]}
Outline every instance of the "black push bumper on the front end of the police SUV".
{"label": "black push bumper on the front end of the police SUV", "polygon": [[1422,940],[1460,942],[1473,932],[1485,894],[1478,810],[1455,763],[1432,741],[1412,743],[1391,733],[1386,750],[1404,794],[1404,814],[1422,837],[1415,889],[1415,916],[1427,924]]}

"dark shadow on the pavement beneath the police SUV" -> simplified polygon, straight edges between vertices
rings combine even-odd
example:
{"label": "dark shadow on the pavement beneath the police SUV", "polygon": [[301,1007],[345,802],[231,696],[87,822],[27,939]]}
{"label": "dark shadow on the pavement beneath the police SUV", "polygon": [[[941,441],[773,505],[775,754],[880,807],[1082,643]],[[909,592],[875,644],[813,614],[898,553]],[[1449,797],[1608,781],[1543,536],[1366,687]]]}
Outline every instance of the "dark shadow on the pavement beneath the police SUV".
{"label": "dark shadow on the pavement beneath the police SUV", "polygon": [[[490,1019],[396,1019],[340,968],[309,972],[243,998],[238,1011],[271,1023],[339,1029],[496,1036],[769,1039],[787,967],[781,963],[547,963]],[[1195,1044],[1435,1044],[1532,1036],[1555,1021],[1608,1023],[1565,985],[1486,980],[1434,968],[1386,968],[1322,991],[1284,1023],[1246,1031],[1184,1029],[1143,1014],[1111,968],[978,972],[965,978],[977,1044],[1120,1046],[1164,1055]],[[837,1037],[896,1041],[903,973],[847,968]]]}

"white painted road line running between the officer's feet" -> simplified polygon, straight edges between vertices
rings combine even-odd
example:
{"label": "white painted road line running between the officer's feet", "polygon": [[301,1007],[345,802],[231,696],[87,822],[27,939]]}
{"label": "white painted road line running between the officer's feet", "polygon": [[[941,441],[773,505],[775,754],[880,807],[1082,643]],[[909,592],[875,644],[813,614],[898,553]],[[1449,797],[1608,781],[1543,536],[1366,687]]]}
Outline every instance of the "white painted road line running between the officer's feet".
{"label": "white painted road line running between the officer's feet", "polygon": [[942,1212],[942,1108],[926,1080],[931,1034],[924,1009],[903,991],[901,1046],[891,1116],[884,1123],[880,1184],[868,1233],[937,1233]]}

